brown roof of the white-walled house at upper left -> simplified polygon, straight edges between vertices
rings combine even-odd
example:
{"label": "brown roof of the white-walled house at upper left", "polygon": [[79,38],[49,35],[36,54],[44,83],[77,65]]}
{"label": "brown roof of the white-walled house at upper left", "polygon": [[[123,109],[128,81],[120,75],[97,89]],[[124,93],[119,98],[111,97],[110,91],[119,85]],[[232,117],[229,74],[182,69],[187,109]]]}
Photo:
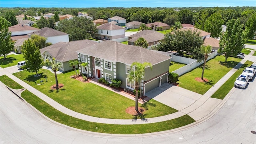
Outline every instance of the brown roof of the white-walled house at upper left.
{"label": "brown roof of the white-walled house at upper left", "polygon": [[37,35],[43,36],[45,38],[52,37],[52,36],[68,35],[65,32],[61,32],[61,31],[54,30],[52,28],[47,28],[47,27],[44,27],[44,28],[41,28],[41,29],[36,30],[34,32],[28,33],[28,35],[32,35],[32,34],[37,34]]}

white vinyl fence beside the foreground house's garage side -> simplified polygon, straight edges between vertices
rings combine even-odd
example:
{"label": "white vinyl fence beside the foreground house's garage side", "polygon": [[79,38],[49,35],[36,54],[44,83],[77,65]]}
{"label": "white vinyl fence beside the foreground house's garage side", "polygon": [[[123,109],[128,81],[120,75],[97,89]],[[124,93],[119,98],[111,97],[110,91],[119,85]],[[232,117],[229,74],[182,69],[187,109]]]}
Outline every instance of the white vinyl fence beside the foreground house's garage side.
{"label": "white vinyl fence beside the foreground house's garage side", "polygon": [[[218,54],[217,50],[215,52],[210,53],[208,55],[207,61],[214,58],[215,56],[217,56],[217,54]],[[174,73],[178,74],[179,76],[182,74],[185,74],[186,72],[189,72],[190,70],[193,70],[194,68],[196,68],[204,63],[204,61],[197,62],[198,60],[194,60],[192,58],[185,58],[185,57],[175,56],[175,55],[172,55],[171,60],[174,62],[180,62],[183,64],[187,64],[186,66],[183,66],[182,68],[179,68],[178,70],[173,71]]]}

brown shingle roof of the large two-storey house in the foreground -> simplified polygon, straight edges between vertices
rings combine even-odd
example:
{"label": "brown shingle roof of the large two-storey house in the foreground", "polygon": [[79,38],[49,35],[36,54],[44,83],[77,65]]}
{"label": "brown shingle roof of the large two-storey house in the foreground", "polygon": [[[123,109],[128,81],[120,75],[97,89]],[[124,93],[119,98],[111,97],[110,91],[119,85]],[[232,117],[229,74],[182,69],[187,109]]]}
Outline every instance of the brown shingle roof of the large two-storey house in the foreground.
{"label": "brown shingle roof of the large two-storey house in the foreground", "polygon": [[169,56],[159,54],[146,48],[122,44],[111,40],[100,42],[94,46],[77,50],[76,52],[103,58],[104,60],[110,60],[112,62],[122,62],[124,64],[150,62],[154,65],[170,59]]}

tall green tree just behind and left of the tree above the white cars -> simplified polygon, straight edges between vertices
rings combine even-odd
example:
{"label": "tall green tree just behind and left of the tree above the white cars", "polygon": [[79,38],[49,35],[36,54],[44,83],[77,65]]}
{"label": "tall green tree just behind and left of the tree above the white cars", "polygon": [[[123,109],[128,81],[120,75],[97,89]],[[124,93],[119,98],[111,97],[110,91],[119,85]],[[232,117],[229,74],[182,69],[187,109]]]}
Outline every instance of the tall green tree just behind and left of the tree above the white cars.
{"label": "tall green tree just behind and left of the tree above the white cars", "polygon": [[212,38],[218,38],[222,31],[223,24],[224,24],[224,20],[222,20],[221,14],[214,13],[207,18],[204,26],[204,31],[210,32]]}

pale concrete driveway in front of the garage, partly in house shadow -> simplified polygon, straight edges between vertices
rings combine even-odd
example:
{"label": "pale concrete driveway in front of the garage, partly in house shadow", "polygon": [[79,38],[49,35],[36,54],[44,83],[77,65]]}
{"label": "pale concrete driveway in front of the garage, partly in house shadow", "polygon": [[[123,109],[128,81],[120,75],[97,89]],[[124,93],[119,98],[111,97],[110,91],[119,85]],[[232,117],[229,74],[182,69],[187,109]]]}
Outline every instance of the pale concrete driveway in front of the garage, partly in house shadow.
{"label": "pale concrete driveway in front of the garage, partly in house shadow", "polygon": [[202,97],[201,94],[168,83],[151,90],[145,95],[179,111],[191,106]]}

